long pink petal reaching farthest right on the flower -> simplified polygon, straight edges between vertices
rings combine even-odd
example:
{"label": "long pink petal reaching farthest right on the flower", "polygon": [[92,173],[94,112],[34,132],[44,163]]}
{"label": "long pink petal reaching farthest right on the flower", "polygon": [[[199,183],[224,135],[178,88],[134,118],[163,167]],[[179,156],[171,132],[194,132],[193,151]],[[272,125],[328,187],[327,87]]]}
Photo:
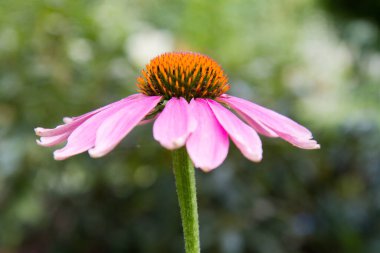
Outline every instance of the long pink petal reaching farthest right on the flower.
{"label": "long pink petal reaching farthest right on the flower", "polygon": [[307,128],[277,112],[233,96],[223,96],[219,100],[242,115],[247,123],[259,133],[276,137],[271,134],[273,132],[299,148],[316,149],[320,147],[315,140],[312,140],[313,135]]}

